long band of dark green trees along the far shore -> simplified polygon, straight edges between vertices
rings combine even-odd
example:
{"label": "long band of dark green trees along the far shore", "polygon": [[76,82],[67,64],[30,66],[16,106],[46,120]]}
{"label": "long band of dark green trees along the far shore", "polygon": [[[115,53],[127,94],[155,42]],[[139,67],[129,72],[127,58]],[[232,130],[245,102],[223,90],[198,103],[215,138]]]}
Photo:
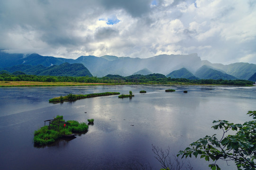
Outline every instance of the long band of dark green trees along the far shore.
{"label": "long band of dark green trees along the far shore", "polygon": [[248,80],[214,80],[214,79],[198,79],[191,80],[186,78],[170,78],[162,74],[151,75],[132,75],[119,76],[108,75],[104,77],[89,76],[36,76],[36,75],[13,75],[8,73],[0,74],[0,81],[34,81],[34,82],[78,82],[78,83],[115,83],[115,84],[168,84],[168,83],[185,83],[185,84],[215,84],[215,85],[253,85],[254,82]]}

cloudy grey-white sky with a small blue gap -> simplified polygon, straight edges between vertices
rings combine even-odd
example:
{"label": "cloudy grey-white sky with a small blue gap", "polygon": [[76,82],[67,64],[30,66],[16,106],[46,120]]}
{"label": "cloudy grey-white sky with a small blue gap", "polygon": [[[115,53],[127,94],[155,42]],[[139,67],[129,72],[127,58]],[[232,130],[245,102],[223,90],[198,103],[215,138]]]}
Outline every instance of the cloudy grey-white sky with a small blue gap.
{"label": "cloudy grey-white sky with a small blue gap", "polygon": [[256,0],[0,0],[0,49],[256,64]]}

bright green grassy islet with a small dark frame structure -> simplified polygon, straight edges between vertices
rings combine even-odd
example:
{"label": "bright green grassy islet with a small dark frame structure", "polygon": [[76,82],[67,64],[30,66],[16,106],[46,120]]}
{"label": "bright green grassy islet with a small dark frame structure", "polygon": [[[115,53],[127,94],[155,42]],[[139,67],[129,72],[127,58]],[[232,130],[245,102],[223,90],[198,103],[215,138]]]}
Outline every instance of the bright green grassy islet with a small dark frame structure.
{"label": "bright green grassy islet with a small dark frame structure", "polygon": [[[53,128],[58,122],[64,122],[56,129]],[[57,115],[49,126],[41,127],[34,132],[34,144],[43,146],[55,142],[62,136],[69,136],[73,133],[85,133],[88,131],[88,125],[84,122],[79,123],[76,120],[65,122],[63,116]]]}

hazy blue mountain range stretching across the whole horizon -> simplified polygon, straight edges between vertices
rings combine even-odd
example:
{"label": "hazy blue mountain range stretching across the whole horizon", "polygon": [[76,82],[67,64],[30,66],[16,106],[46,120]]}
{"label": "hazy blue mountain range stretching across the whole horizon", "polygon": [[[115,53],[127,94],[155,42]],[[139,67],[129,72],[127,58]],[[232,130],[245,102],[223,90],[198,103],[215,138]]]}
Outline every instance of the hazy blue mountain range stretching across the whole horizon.
{"label": "hazy blue mountain range stretching across the whole horizon", "polygon": [[[167,77],[191,77],[203,79],[245,79],[248,80],[256,73],[256,64],[233,63],[229,65],[210,63],[201,60],[196,53],[189,55],[158,55],[146,59],[116,57],[105,55],[81,56],[77,59],[64,59],[39,54],[9,54],[0,52],[0,68],[11,68],[17,65],[31,65],[37,67],[51,67],[63,63],[80,63],[87,68],[93,76],[120,75],[130,76],[133,74],[160,73]],[[41,66],[38,66],[41,65]],[[55,66],[56,67],[56,66]],[[186,70],[184,70],[185,68]],[[182,69],[182,70],[180,70]],[[180,76],[177,72],[186,72]],[[17,71],[17,70],[16,70]],[[19,70],[22,71],[22,70]],[[45,72],[45,73],[49,73]],[[172,74],[171,74],[172,73]]]}

